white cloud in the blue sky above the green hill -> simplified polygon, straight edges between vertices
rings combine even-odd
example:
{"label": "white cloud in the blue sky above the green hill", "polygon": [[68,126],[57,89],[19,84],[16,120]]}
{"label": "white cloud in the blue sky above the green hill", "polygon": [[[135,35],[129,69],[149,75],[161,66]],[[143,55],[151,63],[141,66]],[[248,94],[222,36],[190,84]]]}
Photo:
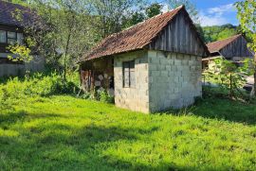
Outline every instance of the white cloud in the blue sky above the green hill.
{"label": "white cloud in the blue sky above the green hill", "polygon": [[227,15],[230,12],[234,12],[235,8],[233,4],[228,4],[225,6],[219,6],[216,8],[207,9],[206,12],[200,11],[199,20],[201,26],[219,26],[229,23]]}

